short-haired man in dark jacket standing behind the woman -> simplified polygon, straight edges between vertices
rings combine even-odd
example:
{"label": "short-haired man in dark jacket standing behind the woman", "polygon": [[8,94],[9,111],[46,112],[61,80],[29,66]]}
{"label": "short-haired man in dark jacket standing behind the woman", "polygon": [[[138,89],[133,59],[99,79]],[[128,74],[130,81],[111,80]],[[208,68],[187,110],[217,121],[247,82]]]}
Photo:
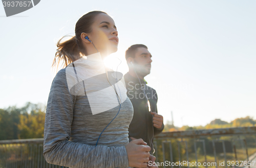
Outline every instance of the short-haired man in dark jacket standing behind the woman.
{"label": "short-haired man in dark jacket standing behind the woman", "polygon": [[157,113],[156,90],[147,86],[144,77],[150,74],[151,54],[143,44],[135,44],[125,52],[129,72],[124,75],[127,97],[134,107],[129,126],[129,139],[142,138],[154,152],[153,137],[162,132],[163,116]]}

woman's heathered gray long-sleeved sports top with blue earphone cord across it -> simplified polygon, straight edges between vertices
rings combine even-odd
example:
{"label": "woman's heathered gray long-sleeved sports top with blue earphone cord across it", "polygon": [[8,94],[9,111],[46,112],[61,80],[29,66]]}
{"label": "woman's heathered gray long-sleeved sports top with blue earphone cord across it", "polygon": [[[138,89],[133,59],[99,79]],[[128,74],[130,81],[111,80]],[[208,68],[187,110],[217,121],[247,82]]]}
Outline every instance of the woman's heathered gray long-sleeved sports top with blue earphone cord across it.
{"label": "woman's heathered gray long-sleeved sports top with blue earphone cord across it", "polygon": [[[72,168],[129,167],[124,146],[129,143],[133,105],[125,84],[119,81],[111,86],[105,83],[106,78],[92,78],[105,73],[99,53],[79,61],[60,69],[53,79],[46,110],[44,157],[48,163]],[[72,77],[83,83],[84,92],[79,91],[78,84],[72,86]]]}

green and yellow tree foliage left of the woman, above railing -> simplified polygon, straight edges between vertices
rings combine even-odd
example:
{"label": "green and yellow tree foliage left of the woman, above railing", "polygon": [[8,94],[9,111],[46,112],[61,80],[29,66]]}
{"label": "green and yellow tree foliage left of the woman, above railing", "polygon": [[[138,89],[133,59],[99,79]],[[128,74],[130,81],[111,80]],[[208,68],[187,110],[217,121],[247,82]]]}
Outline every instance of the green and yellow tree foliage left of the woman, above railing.
{"label": "green and yellow tree foliage left of the woman, above railing", "polygon": [[30,102],[0,109],[0,140],[44,137],[46,106]]}

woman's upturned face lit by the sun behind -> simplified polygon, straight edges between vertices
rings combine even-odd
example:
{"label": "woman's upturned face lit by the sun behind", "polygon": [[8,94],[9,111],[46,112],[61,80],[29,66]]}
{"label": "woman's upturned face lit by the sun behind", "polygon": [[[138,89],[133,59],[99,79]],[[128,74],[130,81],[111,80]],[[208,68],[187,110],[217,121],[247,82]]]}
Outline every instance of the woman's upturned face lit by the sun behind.
{"label": "woman's upturned face lit by the sun behind", "polygon": [[[98,14],[92,25],[92,32],[87,33],[101,55],[109,55],[117,52],[118,37],[114,20],[107,14]],[[90,44],[95,50],[94,46]]]}

